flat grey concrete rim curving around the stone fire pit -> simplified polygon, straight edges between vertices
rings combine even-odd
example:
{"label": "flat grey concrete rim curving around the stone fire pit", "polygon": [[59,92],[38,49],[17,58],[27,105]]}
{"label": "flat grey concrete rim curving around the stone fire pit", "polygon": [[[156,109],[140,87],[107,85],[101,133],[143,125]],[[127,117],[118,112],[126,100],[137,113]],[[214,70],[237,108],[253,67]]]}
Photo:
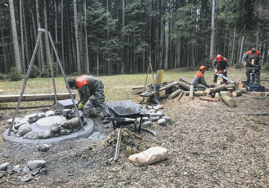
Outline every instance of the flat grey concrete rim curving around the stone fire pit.
{"label": "flat grey concrete rim curving around the stone fire pit", "polygon": [[48,138],[48,139],[37,139],[37,140],[32,140],[32,139],[23,139],[22,137],[16,137],[16,134],[14,134],[12,131],[10,133],[10,136],[8,136],[8,130],[6,129],[3,132],[3,138],[6,141],[10,142],[16,142],[16,143],[55,143],[55,142],[60,142],[60,141],[67,141],[67,140],[75,140],[79,137],[89,137],[94,130],[94,123],[90,118],[85,118],[87,120],[87,124],[84,125],[85,131],[82,129],[77,132],[73,132],[69,135],[61,135],[59,137],[53,137],[53,138]]}

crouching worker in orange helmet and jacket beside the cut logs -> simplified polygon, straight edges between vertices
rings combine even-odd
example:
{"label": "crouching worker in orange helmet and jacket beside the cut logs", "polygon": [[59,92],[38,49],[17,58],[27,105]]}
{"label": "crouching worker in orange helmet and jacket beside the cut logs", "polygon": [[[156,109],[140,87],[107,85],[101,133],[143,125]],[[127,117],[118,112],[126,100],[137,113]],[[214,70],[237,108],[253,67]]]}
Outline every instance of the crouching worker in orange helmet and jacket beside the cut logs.
{"label": "crouching worker in orange helmet and jacket beside the cut logs", "polygon": [[196,72],[195,76],[191,81],[191,85],[194,86],[194,91],[204,91],[206,88],[210,88],[210,86],[205,82],[203,73],[205,71],[209,71],[206,66],[201,66],[199,71]]}

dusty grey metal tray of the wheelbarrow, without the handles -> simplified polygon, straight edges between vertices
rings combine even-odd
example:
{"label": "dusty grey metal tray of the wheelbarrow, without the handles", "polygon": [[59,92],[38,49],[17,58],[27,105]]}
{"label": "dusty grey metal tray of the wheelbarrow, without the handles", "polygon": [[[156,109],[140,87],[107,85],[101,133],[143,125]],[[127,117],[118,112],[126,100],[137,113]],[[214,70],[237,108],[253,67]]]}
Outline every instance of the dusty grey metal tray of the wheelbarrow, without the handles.
{"label": "dusty grey metal tray of the wheelbarrow, without the handles", "polygon": [[[112,112],[113,118],[138,118],[142,109],[131,100],[122,100],[115,102],[107,102],[109,109]],[[113,121],[116,127],[121,125],[129,125],[134,122],[130,121]]]}

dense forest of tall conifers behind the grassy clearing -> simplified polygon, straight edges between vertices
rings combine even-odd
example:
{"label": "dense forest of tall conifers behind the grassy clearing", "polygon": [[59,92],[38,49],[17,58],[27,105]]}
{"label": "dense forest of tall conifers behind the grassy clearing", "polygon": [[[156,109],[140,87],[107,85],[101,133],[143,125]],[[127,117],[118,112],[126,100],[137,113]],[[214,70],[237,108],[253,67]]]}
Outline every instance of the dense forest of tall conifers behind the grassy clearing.
{"label": "dense forest of tall conifers behind the grassy clearing", "polygon": [[[50,32],[66,74],[146,72],[148,57],[154,71],[211,67],[218,54],[241,65],[251,44],[266,64],[268,12],[268,0],[0,0],[0,73],[27,72],[39,28]],[[47,56],[42,35],[39,73]]]}

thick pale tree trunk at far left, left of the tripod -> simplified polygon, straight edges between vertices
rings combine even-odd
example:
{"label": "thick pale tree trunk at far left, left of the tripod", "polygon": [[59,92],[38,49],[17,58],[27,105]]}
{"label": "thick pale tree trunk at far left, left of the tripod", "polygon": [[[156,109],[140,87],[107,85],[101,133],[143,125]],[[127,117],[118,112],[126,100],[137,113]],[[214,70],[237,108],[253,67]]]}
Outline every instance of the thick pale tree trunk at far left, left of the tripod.
{"label": "thick pale tree trunk at far left, left of the tripod", "polygon": [[21,65],[21,57],[20,57],[20,49],[19,49],[18,36],[17,36],[13,0],[8,0],[8,2],[9,2],[9,10],[10,10],[10,20],[11,20],[11,29],[12,29],[13,50],[14,50],[14,55],[15,55],[15,64],[19,72],[22,73],[22,65]]}

